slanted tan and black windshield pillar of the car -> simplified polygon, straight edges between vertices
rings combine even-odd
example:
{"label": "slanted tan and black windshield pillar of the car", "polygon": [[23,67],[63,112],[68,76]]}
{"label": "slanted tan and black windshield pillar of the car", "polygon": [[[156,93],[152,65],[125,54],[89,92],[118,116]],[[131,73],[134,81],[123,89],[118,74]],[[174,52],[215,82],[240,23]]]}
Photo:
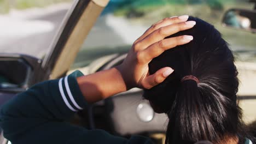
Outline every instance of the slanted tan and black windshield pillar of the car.
{"label": "slanted tan and black windshield pillar of the car", "polygon": [[[109,0],[102,1],[108,2]],[[50,52],[43,59],[45,80],[65,76],[103,9],[104,7],[92,0],[74,2],[51,44]]]}

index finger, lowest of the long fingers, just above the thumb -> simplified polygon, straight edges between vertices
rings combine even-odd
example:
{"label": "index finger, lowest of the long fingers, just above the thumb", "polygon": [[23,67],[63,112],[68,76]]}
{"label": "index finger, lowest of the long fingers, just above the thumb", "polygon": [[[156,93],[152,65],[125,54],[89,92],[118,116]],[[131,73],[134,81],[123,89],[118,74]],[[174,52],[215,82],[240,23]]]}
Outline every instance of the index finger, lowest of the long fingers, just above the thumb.
{"label": "index finger, lowest of the long fingers, just above the thumb", "polygon": [[179,37],[168,38],[158,41],[153,45],[150,45],[147,49],[138,52],[139,63],[149,63],[153,58],[158,57],[164,51],[172,49],[178,45],[184,45],[193,40],[191,35],[182,35]]}

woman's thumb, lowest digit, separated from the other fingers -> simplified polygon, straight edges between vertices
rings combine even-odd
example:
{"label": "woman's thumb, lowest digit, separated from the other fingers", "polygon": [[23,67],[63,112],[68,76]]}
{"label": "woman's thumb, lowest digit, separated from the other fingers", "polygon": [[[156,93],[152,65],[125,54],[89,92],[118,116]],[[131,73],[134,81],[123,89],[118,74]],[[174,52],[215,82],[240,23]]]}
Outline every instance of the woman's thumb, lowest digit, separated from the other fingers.
{"label": "woman's thumb, lowest digit, separated from the other fingers", "polygon": [[163,82],[166,77],[173,73],[173,69],[170,67],[161,68],[153,75],[149,75],[142,81],[143,88],[150,89],[159,83]]}

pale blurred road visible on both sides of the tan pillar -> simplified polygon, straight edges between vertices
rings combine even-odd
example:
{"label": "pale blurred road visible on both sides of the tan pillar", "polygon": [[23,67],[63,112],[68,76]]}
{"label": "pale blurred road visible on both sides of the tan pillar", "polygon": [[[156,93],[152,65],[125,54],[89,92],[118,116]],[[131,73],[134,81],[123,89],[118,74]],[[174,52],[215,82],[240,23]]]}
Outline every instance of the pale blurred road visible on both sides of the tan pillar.
{"label": "pale blurred road visible on both sides of the tan pillar", "polygon": [[[25,53],[42,58],[70,6],[52,5],[0,15],[0,52]],[[146,27],[129,25],[125,19],[104,15],[98,18],[83,47],[132,44],[145,30]]]}

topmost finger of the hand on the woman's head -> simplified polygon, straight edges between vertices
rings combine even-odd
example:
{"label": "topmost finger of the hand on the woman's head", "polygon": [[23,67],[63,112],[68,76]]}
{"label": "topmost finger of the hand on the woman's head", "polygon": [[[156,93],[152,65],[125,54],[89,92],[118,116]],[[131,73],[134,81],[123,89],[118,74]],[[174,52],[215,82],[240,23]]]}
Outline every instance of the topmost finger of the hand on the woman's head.
{"label": "topmost finger of the hand on the woman's head", "polygon": [[154,32],[156,29],[159,29],[160,27],[165,27],[168,25],[173,25],[174,23],[180,23],[185,22],[189,18],[188,15],[182,15],[182,16],[173,16],[173,17],[166,17],[165,19],[162,19],[159,22],[154,23],[141,37],[139,37],[137,41],[140,41],[147,37],[150,33]]}

